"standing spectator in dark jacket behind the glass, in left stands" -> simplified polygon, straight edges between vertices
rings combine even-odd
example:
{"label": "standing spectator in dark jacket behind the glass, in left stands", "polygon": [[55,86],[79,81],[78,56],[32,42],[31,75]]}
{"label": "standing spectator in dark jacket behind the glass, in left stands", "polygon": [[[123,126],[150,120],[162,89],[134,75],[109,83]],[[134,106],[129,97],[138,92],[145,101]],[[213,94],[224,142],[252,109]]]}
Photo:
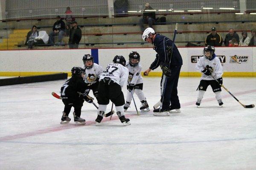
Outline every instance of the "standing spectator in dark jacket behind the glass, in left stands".
{"label": "standing spectator in dark jacket behind the glass, in left stands", "polygon": [[82,37],[82,31],[77,26],[77,22],[73,21],[71,24],[71,28],[67,26],[66,33],[69,36],[68,45],[69,48],[78,48],[79,42]]}

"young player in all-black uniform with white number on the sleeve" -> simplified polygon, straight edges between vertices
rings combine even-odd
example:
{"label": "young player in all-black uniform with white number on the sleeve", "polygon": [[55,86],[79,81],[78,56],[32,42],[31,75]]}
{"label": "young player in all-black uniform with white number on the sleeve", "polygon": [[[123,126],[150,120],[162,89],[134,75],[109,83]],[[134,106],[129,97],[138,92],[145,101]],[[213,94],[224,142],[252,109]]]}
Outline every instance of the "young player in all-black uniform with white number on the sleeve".
{"label": "young player in all-black uniform with white number on the sleeve", "polygon": [[[85,94],[86,85],[84,82],[84,69],[81,67],[73,67],[71,69],[72,77],[68,79],[61,87],[61,98],[64,103],[64,111],[62,112],[61,124],[70,122],[68,117],[72,106],[74,107],[74,122],[76,125],[84,125],[85,120],[80,118],[81,107],[84,100],[93,102],[93,98]],[[81,95],[82,94],[82,95]]]}

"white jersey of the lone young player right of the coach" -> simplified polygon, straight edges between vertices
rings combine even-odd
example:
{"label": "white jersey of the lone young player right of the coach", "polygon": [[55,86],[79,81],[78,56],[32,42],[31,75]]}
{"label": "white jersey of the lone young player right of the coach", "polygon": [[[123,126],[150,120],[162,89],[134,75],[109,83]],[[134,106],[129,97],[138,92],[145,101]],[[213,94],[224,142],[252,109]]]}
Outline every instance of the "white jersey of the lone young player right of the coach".
{"label": "white jersey of the lone young player right of the coach", "polygon": [[222,77],[223,68],[221,65],[221,61],[218,57],[215,57],[211,61],[209,59],[206,59],[205,57],[201,57],[195,65],[195,69],[202,73],[201,79],[214,80],[214,78],[212,78],[210,75],[207,76],[202,72],[207,65],[209,65],[213,68],[212,76],[215,79]]}

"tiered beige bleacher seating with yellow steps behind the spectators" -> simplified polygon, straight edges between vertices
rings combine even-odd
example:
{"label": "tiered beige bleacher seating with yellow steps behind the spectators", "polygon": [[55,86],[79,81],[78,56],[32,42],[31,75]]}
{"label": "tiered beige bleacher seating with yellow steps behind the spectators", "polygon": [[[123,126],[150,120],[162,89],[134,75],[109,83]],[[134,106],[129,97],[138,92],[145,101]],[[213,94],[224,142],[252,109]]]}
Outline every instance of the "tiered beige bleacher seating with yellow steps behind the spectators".
{"label": "tiered beige bleacher seating with yellow steps behind the spectators", "polygon": [[[160,16],[159,16],[160,17]],[[140,17],[90,17],[76,18],[82,30],[82,39],[79,48],[128,48],[128,47],[151,47],[141,39]],[[0,24],[0,49],[21,49],[25,43],[26,34],[33,25],[38,26],[38,31],[52,31],[55,19],[47,20],[12,20]],[[187,42],[204,45],[204,40],[215,26],[217,32],[224,38],[229,28],[241,31],[256,28],[256,19],[251,15],[224,14],[175,14],[166,16],[166,25],[154,25],[154,29],[167,37],[173,37],[174,23],[180,23],[177,46],[185,46]],[[7,29],[6,29],[7,28]],[[250,34],[248,34],[250,37]],[[7,38],[8,46],[7,46]],[[15,38],[14,38],[15,37]],[[64,43],[68,43],[68,37],[64,37]],[[7,48],[8,47],[8,48]],[[41,47],[40,48],[68,48],[66,46]]]}

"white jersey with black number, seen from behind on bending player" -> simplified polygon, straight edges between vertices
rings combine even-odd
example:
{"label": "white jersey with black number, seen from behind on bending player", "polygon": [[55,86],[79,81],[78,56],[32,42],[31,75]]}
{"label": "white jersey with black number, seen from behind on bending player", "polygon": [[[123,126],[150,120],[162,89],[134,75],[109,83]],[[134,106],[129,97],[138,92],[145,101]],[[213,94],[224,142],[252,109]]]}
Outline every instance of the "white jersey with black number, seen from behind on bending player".
{"label": "white jersey with black number, seen from behind on bending player", "polygon": [[104,77],[109,77],[111,80],[123,87],[127,84],[128,75],[128,68],[118,63],[111,63],[99,77],[99,80],[103,79]]}

